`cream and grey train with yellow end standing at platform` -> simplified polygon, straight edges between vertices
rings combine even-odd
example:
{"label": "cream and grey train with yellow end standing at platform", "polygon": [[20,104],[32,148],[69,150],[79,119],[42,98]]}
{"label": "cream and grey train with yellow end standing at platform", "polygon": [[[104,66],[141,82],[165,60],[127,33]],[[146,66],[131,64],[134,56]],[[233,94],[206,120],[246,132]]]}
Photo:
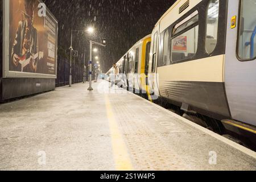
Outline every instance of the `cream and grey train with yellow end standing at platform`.
{"label": "cream and grey train with yellow end standing at platform", "polygon": [[256,146],[255,35],[256,0],[177,0],[117,66],[128,90]]}

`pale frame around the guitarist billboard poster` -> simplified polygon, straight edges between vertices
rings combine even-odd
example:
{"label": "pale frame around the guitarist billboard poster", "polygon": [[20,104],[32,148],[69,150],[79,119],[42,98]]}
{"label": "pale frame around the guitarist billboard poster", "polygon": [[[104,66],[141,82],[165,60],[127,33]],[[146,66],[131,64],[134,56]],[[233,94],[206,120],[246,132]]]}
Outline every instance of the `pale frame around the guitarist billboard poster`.
{"label": "pale frame around the guitarist billboard poster", "polygon": [[[42,2],[41,0],[36,0],[38,2]],[[43,2],[42,2],[43,3]],[[10,1],[9,0],[3,0],[3,78],[57,78],[57,47],[58,47],[58,32],[59,32],[59,26],[57,19],[55,16],[49,11],[48,7],[46,7],[46,11],[51,16],[51,18],[56,22],[57,24],[57,31],[56,31],[56,72],[55,75],[47,75],[47,74],[41,74],[41,73],[25,73],[25,72],[15,72],[10,71],[9,64],[10,64]],[[0,68],[1,69],[1,68]]]}

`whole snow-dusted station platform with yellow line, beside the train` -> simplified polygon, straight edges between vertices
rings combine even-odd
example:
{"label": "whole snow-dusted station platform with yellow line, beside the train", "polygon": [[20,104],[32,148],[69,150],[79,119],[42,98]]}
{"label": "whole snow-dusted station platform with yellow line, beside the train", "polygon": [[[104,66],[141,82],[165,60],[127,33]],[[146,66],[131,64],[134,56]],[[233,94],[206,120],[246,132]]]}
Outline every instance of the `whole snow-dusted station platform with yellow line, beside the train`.
{"label": "whole snow-dusted station platform with yellow line, beside the train", "polygon": [[0,105],[0,170],[256,170],[255,152],[108,84]]}

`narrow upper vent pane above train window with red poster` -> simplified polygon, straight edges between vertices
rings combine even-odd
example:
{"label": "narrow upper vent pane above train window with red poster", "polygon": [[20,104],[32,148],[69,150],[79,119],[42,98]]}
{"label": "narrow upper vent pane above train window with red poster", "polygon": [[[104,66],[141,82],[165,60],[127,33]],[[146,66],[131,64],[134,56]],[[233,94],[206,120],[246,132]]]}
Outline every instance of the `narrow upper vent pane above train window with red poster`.
{"label": "narrow upper vent pane above train window with red poster", "polygon": [[172,36],[175,34],[178,34],[179,32],[185,30],[186,28],[192,26],[193,24],[196,24],[199,22],[199,13],[198,11],[194,11],[191,15],[189,15],[187,18],[182,20],[180,23],[177,23],[172,30]]}

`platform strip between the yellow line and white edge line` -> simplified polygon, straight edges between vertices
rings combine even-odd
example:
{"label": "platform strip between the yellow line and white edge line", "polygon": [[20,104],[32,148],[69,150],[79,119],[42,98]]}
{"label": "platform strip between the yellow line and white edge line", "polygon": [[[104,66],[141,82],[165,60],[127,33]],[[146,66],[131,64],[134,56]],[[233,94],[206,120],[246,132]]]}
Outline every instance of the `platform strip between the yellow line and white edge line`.
{"label": "platform strip between the yellow line and white edge line", "polygon": [[142,98],[117,94],[110,100],[135,170],[256,169],[254,158]]}

